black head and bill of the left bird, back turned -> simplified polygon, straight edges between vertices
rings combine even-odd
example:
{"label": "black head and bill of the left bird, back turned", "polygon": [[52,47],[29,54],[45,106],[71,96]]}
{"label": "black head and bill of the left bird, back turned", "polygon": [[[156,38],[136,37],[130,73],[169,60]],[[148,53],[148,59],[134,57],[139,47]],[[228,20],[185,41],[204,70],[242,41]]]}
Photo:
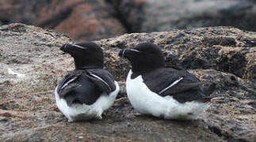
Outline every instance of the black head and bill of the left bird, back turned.
{"label": "black head and bill of the left bird, back turned", "polygon": [[60,47],[75,59],[75,69],[103,68],[103,52],[95,43],[64,44]]}

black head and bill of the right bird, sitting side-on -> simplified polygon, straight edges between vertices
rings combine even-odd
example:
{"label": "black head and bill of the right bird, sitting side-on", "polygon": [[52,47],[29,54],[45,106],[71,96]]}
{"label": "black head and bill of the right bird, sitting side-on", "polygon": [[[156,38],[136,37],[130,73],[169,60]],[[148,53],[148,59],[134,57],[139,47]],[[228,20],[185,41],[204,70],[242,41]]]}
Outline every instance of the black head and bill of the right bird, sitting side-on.
{"label": "black head and bill of the right bird, sitting side-on", "polygon": [[120,50],[119,56],[128,58],[134,73],[147,72],[165,65],[162,51],[153,43],[139,43],[131,49]]}

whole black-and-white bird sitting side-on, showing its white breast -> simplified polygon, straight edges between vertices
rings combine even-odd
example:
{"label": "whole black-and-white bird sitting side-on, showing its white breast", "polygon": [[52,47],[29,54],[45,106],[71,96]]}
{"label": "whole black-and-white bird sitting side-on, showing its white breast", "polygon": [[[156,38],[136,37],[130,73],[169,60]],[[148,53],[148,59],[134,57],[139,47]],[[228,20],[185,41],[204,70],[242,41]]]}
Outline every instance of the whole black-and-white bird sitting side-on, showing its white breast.
{"label": "whole black-and-white bird sitting side-on, showing its white breast", "polygon": [[[130,103],[140,114],[165,119],[194,119],[207,110],[208,96],[214,90],[203,88],[193,74],[178,66],[165,66],[162,51],[153,43],[139,43],[120,50],[132,69],[126,79]],[[212,90],[209,90],[212,89]]]}

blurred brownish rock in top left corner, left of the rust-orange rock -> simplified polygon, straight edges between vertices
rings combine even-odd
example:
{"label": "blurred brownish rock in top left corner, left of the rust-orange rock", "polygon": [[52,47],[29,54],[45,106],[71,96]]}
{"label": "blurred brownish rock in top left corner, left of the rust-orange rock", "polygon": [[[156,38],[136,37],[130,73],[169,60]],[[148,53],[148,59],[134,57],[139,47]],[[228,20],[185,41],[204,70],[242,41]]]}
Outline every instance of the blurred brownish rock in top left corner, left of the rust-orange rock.
{"label": "blurred brownish rock in top left corner, left of the rust-orange rock", "polygon": [[24,22],[44,28],[55,28],[68,17],[76,6],[84,3],[73,1],[32,1],[32,0],[2,0],[0,5],[0,21],[3,24]]}

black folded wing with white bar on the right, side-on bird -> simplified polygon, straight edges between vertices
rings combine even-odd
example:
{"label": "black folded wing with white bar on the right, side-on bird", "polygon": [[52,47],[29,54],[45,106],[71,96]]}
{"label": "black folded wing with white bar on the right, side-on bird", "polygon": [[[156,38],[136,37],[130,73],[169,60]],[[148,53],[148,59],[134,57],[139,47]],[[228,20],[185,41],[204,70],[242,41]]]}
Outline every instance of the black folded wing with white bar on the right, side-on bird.
{"label": "black folded wing with white bar on the right, side-on bird", "polygon": [[142,77],[152,92],[161,96],[172,95],[181,103],[200,99],[204,95],[200,80],[177,66],[156,69]]}

